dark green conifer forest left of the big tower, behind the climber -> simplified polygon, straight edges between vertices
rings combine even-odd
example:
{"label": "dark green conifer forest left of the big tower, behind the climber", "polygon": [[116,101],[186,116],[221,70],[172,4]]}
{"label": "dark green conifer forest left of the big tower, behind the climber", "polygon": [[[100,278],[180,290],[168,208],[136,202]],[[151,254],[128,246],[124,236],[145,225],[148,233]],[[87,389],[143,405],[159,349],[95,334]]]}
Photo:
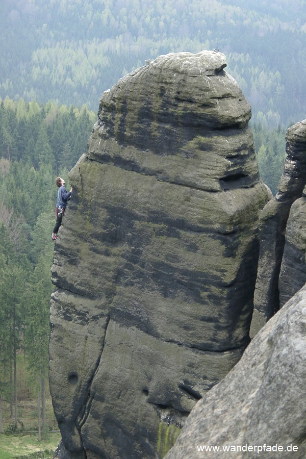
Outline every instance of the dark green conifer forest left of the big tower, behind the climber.
{"label": "dark green conifer forest left of the big tower, behind the climber", "polygon": [[69,186],[68,168],[87,150],[94,120],[86,107],[0,101],[0,432],[3,400],[11,402],[12,424],[20,419],[22,353],[45,422],[55,177]]}

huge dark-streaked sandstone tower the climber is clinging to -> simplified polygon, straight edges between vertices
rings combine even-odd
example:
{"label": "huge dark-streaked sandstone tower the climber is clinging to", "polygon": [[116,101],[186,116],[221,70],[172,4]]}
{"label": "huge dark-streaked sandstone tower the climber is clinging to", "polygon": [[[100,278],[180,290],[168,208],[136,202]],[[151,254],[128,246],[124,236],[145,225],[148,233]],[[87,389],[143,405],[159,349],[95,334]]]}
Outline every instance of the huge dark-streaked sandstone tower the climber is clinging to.
{"label": "huge dark-streaked sandstone tower the climber is clinging to", "polygon": [[62,459],[161,457],[249,342],[270,194],[225,65],[161,56],[101,97],[54,254]]}

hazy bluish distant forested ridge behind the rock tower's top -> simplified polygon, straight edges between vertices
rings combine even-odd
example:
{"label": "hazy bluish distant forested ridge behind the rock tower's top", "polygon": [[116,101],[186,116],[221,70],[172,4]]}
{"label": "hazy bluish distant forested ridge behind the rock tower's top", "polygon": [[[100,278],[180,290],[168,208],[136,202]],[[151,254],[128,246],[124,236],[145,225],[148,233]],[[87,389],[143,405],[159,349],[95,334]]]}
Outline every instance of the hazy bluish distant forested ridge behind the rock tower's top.
{"label": "hazy bluish distant forested ridge behind the rock tower's top", "polygon": [[305,0],[2,0],[0,97],[82,106],[169,52],[218,48],[268,126],[305,118]]}

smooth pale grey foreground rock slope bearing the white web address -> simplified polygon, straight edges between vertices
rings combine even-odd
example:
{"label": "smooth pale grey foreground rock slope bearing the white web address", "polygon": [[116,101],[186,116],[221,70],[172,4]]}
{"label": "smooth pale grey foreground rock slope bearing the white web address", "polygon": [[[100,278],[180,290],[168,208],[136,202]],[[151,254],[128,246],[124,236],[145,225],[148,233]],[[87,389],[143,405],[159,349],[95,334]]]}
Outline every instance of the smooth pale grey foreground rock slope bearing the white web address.
{"label": "smooth pale grey foreground rock slope bearing the white web address", "polygon": [[[166,459],[306,457],[305,362],[306,287],[261,329],[235,368],[197,402]],[[223,451],[223,446],[264,444],[265,451]],[[276,444],[284,450],[275,452]],[[201,445],[220,449],[198,451]],[[267,445],[274,449],[267,452]],[[289,445],[298,450],[287,451]]]}

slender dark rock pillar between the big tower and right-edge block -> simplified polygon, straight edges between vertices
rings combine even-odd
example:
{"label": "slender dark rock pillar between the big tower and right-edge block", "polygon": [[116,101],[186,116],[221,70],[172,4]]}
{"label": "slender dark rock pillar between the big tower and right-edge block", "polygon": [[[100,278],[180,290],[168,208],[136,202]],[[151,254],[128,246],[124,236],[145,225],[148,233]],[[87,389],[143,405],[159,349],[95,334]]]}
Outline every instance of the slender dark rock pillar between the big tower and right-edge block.
{"label": "slender dark rock pillar between the big tower and right-edge block", "polygon": [[[260,258],[251,337],[255,336],[279,309],[278,279],[284,254],[287,220],[293,202],[302,196],[306,184],[306,120],[294,124],[287,130],[286,141],[287,158],[284,173],[278,184],[278,192],[267,203],[260,218]],[[293,253],[290,257],[292,256]],[[291,268],[291,274],[294,276],[296,268]],[[292,276],[290,275],[290,279]],[[291,280],[289,281],[288,292],[284,292],[283,304],[303,286],[306,281],[302,282],[302,279],[296,279],[292,285],[289,285]]]}

